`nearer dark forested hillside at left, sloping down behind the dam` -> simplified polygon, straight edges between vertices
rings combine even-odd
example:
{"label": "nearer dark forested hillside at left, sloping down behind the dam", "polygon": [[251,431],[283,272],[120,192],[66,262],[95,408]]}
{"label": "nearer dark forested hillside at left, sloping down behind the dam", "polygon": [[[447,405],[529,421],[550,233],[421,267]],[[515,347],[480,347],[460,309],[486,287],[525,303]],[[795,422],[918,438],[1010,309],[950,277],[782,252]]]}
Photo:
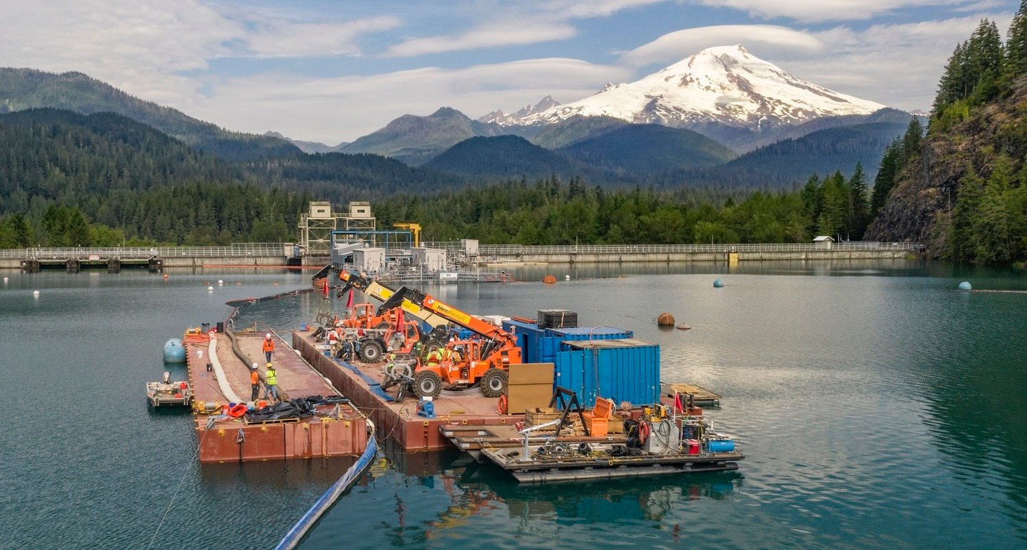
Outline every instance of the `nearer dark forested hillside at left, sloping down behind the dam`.
{"label": "nearer dark forested hillside at left, sloping down behind the dam", "polygon": [[112,113],[0,116],[0,246],[288,239],[309,195]]}

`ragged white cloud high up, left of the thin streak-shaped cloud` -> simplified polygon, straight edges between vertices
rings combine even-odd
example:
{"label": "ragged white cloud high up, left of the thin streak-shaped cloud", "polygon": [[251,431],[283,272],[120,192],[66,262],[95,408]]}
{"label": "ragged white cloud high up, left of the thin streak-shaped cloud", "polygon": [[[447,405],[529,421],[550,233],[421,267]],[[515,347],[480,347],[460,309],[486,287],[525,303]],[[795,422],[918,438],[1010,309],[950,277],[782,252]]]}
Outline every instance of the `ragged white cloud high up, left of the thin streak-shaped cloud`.
{"label": "ragged white cloud high up, left of the thin streak-shaped cloud", "polygon": [[398,27],[393,16],[368,17],[344,23],[295,23],[275,18],[257,23],[245,41],[250,52],[268,57],[359,55],[362,34]]}

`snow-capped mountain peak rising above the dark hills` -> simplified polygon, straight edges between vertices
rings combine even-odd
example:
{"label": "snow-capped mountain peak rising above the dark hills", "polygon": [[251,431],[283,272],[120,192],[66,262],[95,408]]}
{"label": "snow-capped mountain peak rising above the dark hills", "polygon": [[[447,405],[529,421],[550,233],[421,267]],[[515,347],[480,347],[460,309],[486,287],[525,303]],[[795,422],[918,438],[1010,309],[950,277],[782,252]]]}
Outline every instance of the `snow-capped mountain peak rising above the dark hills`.
{"label": "snow-capped mountain peak rising above the dark hills", "polygon": [[734,45],[703,49],[636,82],[607,84],[577,102],[542,112],[537,107],[527,116],[504,115],[495,122],[535,125],[576,115],[609,116],[636,123],[675,127],[713,123],[760,132],[826,116],[867,115],[885,106],[806,82]]}

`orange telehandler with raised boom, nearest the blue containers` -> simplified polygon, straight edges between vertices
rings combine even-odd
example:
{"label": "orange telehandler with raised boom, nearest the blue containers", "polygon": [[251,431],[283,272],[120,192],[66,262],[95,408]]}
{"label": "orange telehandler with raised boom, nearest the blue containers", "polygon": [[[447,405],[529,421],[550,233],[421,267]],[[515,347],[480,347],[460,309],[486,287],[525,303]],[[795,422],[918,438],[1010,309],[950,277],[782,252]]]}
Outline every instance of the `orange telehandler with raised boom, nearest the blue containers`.
{"label": "orange telehandler with raised boom, nearest the blue containers", "polygon": [[482,393],[486,397],[499,397],[505,392],[506,367],[521,362],[521,348],[514,335],[406,286],[401,286],[378,311],[395,307],[404,300],[463,326],[478,337],[448,342],[440,363],[417,367],[414,393],[418,397],[435,397],[444,386],[466,388],[478,382],[482,383]]}

